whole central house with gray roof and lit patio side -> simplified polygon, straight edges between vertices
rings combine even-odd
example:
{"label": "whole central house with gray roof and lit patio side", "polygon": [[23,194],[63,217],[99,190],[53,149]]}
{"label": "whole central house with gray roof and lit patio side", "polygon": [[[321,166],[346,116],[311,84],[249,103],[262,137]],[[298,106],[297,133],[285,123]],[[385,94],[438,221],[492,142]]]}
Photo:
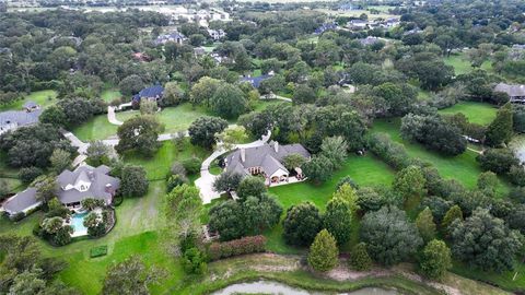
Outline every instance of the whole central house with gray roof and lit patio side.
{"label": "whole central house with gray roof and lit patio side", "polygon": [[[268,186],[288,182],[292,174],[282,164],[282,160],[291,154],[300,154],[306,160],[311,155],[301,144],[279,145],[272,141],[261,146],[238,149],[224,160],[225,170],[243,176],[261,175]],[[304,179],[301,168],[294,169],[298,180]]]}

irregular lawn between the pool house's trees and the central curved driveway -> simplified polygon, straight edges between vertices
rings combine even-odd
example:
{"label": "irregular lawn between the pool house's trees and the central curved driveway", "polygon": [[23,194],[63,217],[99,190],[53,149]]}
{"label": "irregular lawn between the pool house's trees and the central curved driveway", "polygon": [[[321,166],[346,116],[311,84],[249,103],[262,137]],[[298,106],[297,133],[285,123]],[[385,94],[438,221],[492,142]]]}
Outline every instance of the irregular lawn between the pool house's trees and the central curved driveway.
{"label": "irregular lawn between the pool house's trees and the central curved driveway", "polygon": [[143,157],[136,153],[128,153],[124,156],[124,162],[139,165],[145,168],[148,178],[164,179],[175,161],[183,161],[190,157],[206,158],[211,152],[191,145],[189,139],[185,139],[185,144],[180,151],[175,149],[172,141],[164,141],[161,149],[153,157]]}

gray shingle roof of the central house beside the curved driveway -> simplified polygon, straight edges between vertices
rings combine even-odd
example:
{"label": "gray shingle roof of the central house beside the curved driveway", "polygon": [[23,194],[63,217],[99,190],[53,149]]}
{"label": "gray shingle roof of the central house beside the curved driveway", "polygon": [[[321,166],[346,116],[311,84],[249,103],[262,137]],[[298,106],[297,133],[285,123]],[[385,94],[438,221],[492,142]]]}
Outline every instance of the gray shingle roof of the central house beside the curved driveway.
{"label": "gray shingle roof of the central house beside the curved driveway", "polygon": [[[276,144],[278,146],[277,152]],[[241,158],[241,150],[236,150],[226,156],[226,170],[249,175],[247,168],[261,167],[266,175],[270,176],[278,169],[289,173],[289,170],[281,164],[282,158],[287,155],[300,154],[306,158],[310,157],[308,151],[298,143],[279,145],[277,142],[270,142],[261,146],[245,149],[244,152],[244,162]]]}

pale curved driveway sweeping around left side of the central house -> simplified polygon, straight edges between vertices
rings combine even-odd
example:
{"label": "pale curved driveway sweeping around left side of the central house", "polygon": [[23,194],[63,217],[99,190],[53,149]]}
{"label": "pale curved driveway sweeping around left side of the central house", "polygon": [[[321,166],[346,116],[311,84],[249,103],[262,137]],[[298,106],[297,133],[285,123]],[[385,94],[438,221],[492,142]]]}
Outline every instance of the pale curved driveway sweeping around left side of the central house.
{"label": "pale curved driveway sweeping around left side of the central house", "polygon": [[[268,142],[270,137],[271,137],[271,132],[268,131],[268,133],[266,135],[262,135],[260,140],[256,140],[254,142],[246,143],[246,144],[237,144],[234,148],[232,148],[231,150],[261,146],[266,142]],[[197,188],[199,188],[199,190],[200,190],[200,199],[202,200],[202,203],[208,204],[208,203],[211,202],[211,200],[221,197],[222,192],[221,191],[215,191],[213,189],[213,182],[215,181],[218,176],[212,175],[210,173],[209,168],[210,168],[211,163],[214,160],[217,160],[219,156],[225,154],[226,152],[229,152],[231,150],[225,150],[225,149],[222,148],[222,145],[220,145],[220,148],[218,148],[217,151],[214,151],[208,158],[206,158],[202,162],[202,165],[200,166],[200,177],[197,180],[195,180],[195,186]]]}

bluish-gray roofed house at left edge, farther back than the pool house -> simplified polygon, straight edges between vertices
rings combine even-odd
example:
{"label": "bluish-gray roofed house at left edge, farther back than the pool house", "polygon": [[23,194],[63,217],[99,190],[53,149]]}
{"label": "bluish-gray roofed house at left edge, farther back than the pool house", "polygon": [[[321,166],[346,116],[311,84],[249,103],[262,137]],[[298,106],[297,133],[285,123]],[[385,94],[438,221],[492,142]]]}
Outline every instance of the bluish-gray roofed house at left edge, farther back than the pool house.
{"label": "bluish-gray roofed house at left edge, farther back than the pool house", "polygon": [[22,126],[30,126],[38,122],[42,109],[34,102],[27,102],[24,110],[7,110],[0,113],[0,134],[14,130]]}

